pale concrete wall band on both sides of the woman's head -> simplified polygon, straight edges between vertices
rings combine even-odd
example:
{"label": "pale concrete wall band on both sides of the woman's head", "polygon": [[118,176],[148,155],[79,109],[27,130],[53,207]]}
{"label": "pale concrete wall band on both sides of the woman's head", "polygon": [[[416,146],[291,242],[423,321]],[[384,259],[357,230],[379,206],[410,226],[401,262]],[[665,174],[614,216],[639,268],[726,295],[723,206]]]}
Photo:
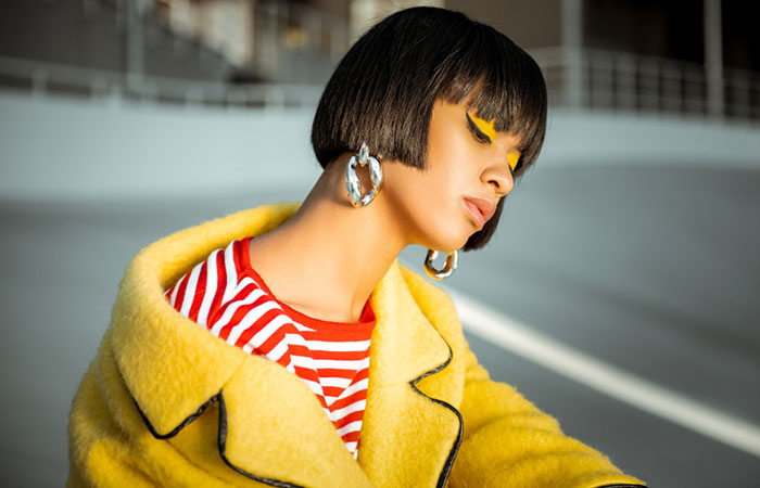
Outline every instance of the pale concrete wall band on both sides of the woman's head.
{"label": "pale concrete wall band on both sides of the woman's head", "polygon": [[[99,200],[309,188],[313,108],[231,111],[0,92],[0,200]],[[700,165],[760,170],[760,129],[556,113],[539,168]]]}

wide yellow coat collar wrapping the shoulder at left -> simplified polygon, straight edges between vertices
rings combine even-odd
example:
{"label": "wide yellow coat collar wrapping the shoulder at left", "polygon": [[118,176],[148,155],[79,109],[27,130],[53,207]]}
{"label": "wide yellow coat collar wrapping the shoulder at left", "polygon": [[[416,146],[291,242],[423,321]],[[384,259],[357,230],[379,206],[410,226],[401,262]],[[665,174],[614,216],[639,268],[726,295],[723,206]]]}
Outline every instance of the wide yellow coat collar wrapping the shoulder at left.
{"label": "wide yellow coat collar wrapping the shoulder at left", "polygon": [[266,232],[296,208],[258,207],[186,229],[129,264],[113,310],[113,350],[127,388],[157,433],[168,434],[218,394],[248,356],[208,341],[207,331],[168,305],[164,290],[214,249]]}

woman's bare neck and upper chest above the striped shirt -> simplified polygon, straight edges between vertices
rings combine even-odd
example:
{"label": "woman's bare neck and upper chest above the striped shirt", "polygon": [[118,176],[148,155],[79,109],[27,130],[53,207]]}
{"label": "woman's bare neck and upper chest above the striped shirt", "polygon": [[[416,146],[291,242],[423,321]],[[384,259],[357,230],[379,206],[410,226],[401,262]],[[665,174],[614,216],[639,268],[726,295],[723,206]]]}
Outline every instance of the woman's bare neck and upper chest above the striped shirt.
{"label": "woman's bare neck and upper chest above the striped shirt", "polygon": [[324,171],[286,223],[251,241],[251,265],[280,301],[337,322],[358,321],[372,290],[409,244],[382,192],[366,207],[351,205],[346,160]]}

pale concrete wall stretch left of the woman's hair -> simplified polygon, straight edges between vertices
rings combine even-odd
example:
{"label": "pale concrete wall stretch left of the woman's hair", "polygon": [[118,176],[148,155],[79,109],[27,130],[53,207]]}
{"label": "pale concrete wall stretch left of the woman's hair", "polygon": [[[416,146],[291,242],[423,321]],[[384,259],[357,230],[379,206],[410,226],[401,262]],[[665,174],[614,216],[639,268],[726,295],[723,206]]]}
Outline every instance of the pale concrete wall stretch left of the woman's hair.
{"label": "pale concrete wall stretch left of the woman's hair", "polygon": [[321,168],[313,111],[225,112],[0,92],[0,198],[214,194]]}

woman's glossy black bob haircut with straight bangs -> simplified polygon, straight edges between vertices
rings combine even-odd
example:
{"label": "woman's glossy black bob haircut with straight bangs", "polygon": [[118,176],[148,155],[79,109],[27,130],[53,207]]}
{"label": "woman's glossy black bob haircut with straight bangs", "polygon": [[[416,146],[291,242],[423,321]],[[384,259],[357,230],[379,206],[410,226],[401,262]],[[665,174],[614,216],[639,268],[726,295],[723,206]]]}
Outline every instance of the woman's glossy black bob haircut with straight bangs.
{"label": "woman's glossy black bob haircut with straight bangs", "polygon": [[[312,125],[312,146],[326,168],[366,141],[372,154],[425,169],[435,101],[467,100],[499,132],[521,138],[517,180],[541,151],[546,85],[539,65],[493,27],[465,14],[418,7],[396,12],[349,50],[325,87]],[[506,155],[505,155],[506,164]],[[504,198],[464,251],[484,246]]]}

